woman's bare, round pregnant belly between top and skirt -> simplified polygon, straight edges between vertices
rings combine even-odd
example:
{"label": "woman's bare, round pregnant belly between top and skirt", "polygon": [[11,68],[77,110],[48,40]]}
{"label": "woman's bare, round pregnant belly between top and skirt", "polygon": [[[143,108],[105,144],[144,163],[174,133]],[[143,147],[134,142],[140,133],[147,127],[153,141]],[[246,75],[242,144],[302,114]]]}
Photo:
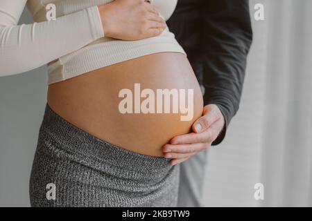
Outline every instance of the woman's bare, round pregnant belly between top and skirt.
{"label": "woman's bare, round pregnant belly between top and skirt", "polygon": [[152,156],[163,156],[164,144],[189,133],[203,108],[187,57],[173,52],[139,57],[52,84],[48,103],[83,131]]}

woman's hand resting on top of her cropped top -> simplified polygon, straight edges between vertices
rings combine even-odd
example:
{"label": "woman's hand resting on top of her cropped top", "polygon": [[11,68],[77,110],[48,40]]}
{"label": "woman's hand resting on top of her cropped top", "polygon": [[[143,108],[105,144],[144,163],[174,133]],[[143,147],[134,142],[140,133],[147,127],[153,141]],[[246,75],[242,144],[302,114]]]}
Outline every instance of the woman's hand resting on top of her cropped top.
{"label": "woman's hand resting on top of her cropped top", "polygon": [[144,0],[115,0],[98,6],[105,37],[134,41],[160,35],[166,22]]}

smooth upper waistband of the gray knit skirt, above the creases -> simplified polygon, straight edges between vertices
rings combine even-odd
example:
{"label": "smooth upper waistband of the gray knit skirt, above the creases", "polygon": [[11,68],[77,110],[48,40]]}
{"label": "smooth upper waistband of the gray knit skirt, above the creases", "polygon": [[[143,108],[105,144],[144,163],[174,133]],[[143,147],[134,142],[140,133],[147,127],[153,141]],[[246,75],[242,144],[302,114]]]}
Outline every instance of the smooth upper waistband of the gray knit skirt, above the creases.
{"label": "smooth upper waistband of the gray knit skirt, above the creases", "polygon": [[66,119],[55,113],[49,104],[46,104],[40,130],[49,133],[49,136],[65,150],[68,149],[68,151],[96,157],[102,162],[123,167],[130,171],[164,172],[171,168],[170,159],[128,151],[125,148],[94,137],[94,135],[67,122]]}

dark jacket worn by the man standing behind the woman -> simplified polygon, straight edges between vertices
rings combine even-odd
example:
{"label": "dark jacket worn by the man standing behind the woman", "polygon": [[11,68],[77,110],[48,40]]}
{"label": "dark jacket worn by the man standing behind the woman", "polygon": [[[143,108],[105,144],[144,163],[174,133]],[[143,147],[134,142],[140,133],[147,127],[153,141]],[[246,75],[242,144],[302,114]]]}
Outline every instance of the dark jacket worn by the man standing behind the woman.
{"label": "dark jacket worn by the man standing behind the woman", "polygon": [[219,144],[239,109],[252,43],[249,1],[178,0],[167,23],[205,87],[205,105],[216,104],[225,117],[225,127],[213,143]]}

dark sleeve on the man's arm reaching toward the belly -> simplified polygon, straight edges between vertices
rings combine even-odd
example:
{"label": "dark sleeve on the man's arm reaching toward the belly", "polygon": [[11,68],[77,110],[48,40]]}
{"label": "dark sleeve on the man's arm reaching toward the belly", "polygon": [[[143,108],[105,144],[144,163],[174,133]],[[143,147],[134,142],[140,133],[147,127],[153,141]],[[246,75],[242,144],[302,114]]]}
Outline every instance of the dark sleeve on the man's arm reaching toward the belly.
{"label": "dark sleeve on the man's arm reaching toward the belly", "polygon": [[248,0],[208,0],[202,6],[204,102],[216,104],[225,127],[212,145],[220,144],[239,109],[246,58],[252,43]]}

